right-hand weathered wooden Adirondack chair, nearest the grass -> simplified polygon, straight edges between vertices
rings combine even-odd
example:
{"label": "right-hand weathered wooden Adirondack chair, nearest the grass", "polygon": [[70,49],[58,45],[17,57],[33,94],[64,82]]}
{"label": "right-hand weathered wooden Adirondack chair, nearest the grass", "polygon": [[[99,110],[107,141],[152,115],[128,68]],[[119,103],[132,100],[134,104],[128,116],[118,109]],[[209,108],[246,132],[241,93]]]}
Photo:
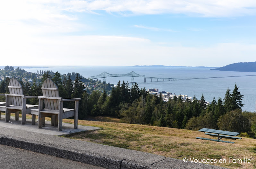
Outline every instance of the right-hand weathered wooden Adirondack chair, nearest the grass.
{"label": "right-hand weathered wooden Adirondack chair, nearest the grass", "polygon": [[[63,99],[59,97],[59,90],[56,84],[46,79],[42,85],[43,96],[38,96],[39,109],[31,110],[32,125],[35,125],[36,115],[38,115],[38,128],[42,128],[44,118],[51,116],[51,125],[57,126],[62,131],[62,119],[74,117],[74,128],[77,128],[78,122],[78,101],[77,99]],[[43,108],[43,101],[45,108]],[[75,101],[74,109],[63,108],[64,101]]]}

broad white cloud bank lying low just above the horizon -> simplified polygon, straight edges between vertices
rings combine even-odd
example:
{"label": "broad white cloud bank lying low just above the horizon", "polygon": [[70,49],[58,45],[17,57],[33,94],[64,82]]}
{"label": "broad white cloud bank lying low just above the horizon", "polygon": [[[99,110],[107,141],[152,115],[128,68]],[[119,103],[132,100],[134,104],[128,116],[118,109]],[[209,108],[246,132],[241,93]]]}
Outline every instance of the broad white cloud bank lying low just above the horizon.
{"label": "broad white cloud bank lying low just above the horizon", "polygon": [[192,48],[123,36],[28,37],[0,45],[0,65],[8,65],[12,58],[12,65],[224,66],[255,61],[252,56],[256,53],[255,44],[219,43]]}

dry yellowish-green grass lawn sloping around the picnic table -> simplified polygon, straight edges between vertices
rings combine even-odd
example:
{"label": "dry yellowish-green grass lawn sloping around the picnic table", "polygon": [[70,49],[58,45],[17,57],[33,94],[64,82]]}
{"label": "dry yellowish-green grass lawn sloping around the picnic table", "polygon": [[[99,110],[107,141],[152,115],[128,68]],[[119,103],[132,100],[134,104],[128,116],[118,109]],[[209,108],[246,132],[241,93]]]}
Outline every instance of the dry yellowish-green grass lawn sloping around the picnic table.
{"label": "dry yellowish-green grass lawn sloping around the picnic table", "polygon": [[[30,116],[28,115],[27,118],[31,118]],[[50,118],[46,118],[46,120],[50,120]],[[74,120],[63,119],[63,122],[73,123]],[[215,138],[203,132],[168,127],[86,120],[78,120],[78,125],[101,127],[102,129],[70,134],[65,137],[181,160],[184,157],[188,159],[190,157],[195,159],[217,159],[217,163],[212,165],[227,168],[256,169],[256,139],[243,137],[231,144],[196,139],[196,137]],[[229,163],[229,157],[233,159],[247,157],[247,159],[251,159],[251,163]],[[226,159],[226,163],[219,163],[219,159]]]}

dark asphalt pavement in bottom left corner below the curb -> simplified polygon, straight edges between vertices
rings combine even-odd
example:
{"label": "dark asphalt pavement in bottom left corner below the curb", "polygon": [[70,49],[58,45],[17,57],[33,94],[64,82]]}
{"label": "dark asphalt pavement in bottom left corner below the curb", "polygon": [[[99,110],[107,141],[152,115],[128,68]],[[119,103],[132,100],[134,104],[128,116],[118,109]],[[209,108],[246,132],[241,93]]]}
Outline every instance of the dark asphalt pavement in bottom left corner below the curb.
{"label": "dark asphalt pavement in bottom left corner below the curb", "polygon": [[105,169],[5,145],[0,145],[0,150],[0,168],[5,169]]}

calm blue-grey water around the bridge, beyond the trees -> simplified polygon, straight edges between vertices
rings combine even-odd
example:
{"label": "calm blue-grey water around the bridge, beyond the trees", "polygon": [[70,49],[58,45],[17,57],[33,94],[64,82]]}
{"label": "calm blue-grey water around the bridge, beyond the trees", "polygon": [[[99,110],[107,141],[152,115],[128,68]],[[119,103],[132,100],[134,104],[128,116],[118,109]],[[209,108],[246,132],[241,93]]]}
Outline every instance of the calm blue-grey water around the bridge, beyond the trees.
{"label": "calm blue-grey water around the bridge, beyond the trees", "polygon": [[[252,72],[226,72],[226,71],[210,71],[210,68],[149,68],[149,67],[131,67],[131,66],[93,66],[93,67],[49,67],[48,69],[25,69],[28,72],[37,72],[37,70],[52,70],[59,73],[80,73],[88,78],[96,76],[102,72],[110,74],[126,74],[134,71],[146,77],[164,77],[164,78],[201,78],[201,77],[220,77],[220,76],[239,76],[239,75],[256,75]],[[99,79],[103,81],[103,79]],[[118,81],[131,81],[131,77],[112,77],[106,78],[107,82],[115,84]],[[158,88],[159,91],[172,92],[175,94],[196,96],[200,99],[201,94],[205,96],[206,101],[212,101],[213,97],[222,99],[225,96],[227,88],[233,91],[235,83],[239,87],[243,98],[243,111],[255,111],[256,101],[256,76],[249,77],[230,77],[230,78],[214,78],[214,79],[196,79],[182,81],[162,81],[152,79],[134,77],[140,88]],[[130,83],[130,86],[132,84]]]}

